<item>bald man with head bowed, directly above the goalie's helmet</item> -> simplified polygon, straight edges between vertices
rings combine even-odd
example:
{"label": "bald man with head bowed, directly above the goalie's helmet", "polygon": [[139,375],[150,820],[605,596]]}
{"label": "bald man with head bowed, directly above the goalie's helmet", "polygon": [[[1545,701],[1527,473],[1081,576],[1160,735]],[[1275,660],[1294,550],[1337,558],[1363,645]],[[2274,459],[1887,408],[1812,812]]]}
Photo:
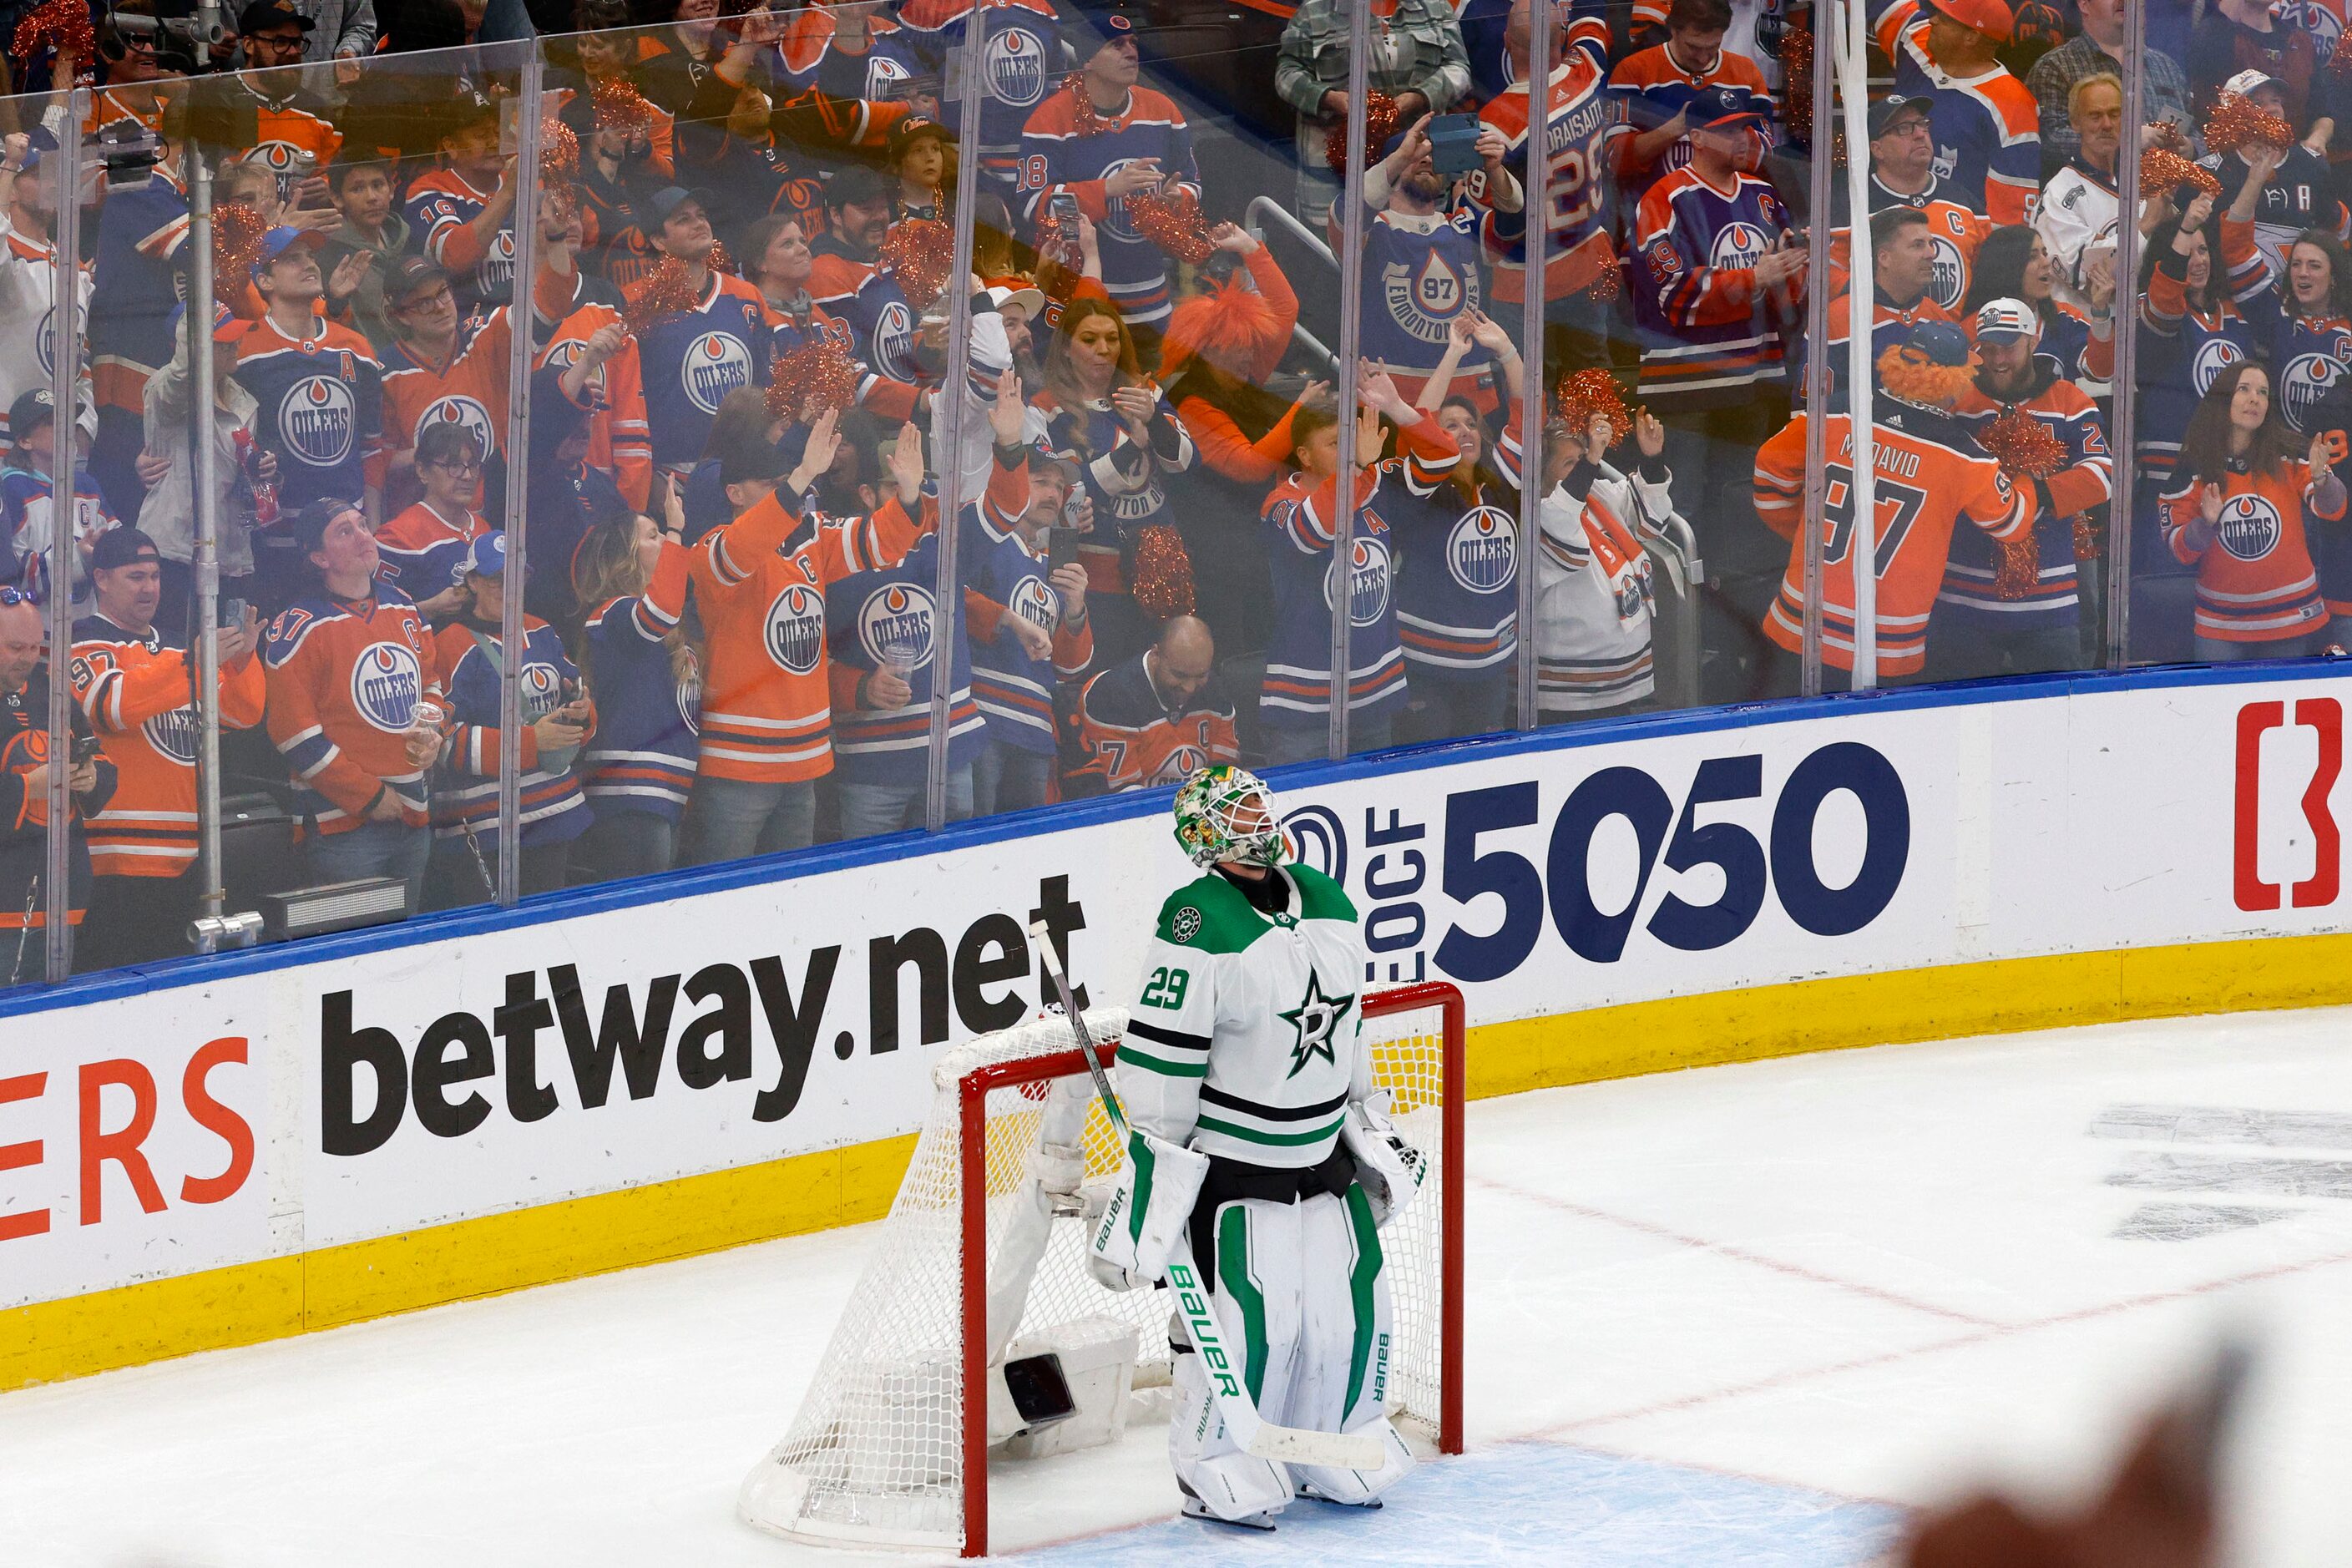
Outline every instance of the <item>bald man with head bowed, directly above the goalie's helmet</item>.
{"label": "bald man with head bowed, directly above the goalie's helmet", "polygon": [[1160,642],[1103,670],[1077,698],[1080,766],[1073,795],[1183,783],[1211,762],[1240,762],[1232,696],[1216,675],[1216,639],[1200,616],[1176,616]]}

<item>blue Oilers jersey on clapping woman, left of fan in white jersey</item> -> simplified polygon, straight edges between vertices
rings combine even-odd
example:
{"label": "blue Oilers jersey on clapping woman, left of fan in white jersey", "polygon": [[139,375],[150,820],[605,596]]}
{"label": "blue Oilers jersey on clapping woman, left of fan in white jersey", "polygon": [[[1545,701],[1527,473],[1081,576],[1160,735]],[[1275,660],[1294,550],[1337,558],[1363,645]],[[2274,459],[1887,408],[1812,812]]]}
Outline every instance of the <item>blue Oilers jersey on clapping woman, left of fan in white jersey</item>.
{"label": "blue Oilers jersey on clapping woman, left of fan in white jersey", "polygon": [[1388,510],[1397,637],[1416,684],[1496,679],[1517,649],[1519,524],[1508,501],[1451,482]]}

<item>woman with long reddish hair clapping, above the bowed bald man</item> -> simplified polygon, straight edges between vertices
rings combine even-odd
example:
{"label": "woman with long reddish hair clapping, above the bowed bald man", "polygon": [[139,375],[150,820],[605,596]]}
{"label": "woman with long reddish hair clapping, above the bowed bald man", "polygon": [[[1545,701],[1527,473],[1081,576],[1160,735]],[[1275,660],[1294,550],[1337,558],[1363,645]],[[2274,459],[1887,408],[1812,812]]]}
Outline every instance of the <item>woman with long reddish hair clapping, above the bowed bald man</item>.
{"label": "woman with long reddish hair clapping, above the bowed bald man", "polygon": [[[1192,437],[1143,376],[1136,336],[1108,299],[1080,296],[1061,308],[1035,404],[1047,416],[1049,447],[1077,461],[1094,501],[1080,564],[1096,656],[1103,665],[1124,663],[1150,646],[1162,621],[1190,609],[1192,569],[1160,480],[1192,465]],[[1138,588],[1148,604],[1138,602]]]}

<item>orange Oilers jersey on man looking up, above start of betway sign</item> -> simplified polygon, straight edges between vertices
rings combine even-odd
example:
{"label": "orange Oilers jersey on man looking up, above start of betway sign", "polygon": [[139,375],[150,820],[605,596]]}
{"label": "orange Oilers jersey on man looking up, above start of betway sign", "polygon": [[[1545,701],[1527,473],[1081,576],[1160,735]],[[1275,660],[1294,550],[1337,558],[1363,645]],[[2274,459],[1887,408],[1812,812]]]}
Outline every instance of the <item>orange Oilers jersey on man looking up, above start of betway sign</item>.
{"label": "orange Oilers jersey on man looking up, above start of betway sign", "polygon": [[426,773],[407,738],[421,698],[442,698],[433,635],[397,588],[367,599],[296,599],[261,644],[268,731],[301,795],[296,811],[322,835],[350,832],[376,790],[400,799],[400,820],[426,825]]}

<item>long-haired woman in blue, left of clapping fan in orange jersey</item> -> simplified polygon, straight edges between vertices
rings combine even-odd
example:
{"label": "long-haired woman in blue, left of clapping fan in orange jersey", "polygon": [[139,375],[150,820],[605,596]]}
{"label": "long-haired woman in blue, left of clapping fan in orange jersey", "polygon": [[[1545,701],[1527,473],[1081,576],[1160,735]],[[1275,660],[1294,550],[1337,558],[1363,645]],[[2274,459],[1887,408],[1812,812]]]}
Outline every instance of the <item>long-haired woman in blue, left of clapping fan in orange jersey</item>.
{"label": "long-haired woman in blue, left of clapping fan in orange jersey", "polygon": [[609,512],[572,555],[588,607],[581,677],[597,693],[597,733],[579,771],[595,820],[574,849],[593,877],[652,877],[677,863],[677,820],[694,790],[701,656],[687,637],[684,510],[668,527]]}

